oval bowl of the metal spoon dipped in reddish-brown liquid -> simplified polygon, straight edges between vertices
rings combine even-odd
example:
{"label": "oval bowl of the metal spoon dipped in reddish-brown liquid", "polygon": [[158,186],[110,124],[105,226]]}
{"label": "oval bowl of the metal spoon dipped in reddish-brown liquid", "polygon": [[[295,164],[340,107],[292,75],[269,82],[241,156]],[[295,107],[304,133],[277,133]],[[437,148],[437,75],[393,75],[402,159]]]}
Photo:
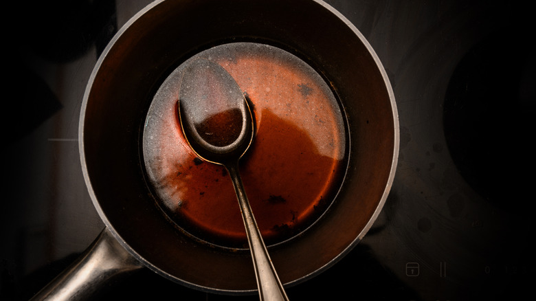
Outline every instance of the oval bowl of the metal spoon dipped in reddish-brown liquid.
{"label": "oval bowl of the metal spoon dipped in reddish-brown liquid", "polygon": [[252,113],[240,87],[210,60],[188,65],[178,108],[188,144],[206,161],[238,160],[253,141]]}

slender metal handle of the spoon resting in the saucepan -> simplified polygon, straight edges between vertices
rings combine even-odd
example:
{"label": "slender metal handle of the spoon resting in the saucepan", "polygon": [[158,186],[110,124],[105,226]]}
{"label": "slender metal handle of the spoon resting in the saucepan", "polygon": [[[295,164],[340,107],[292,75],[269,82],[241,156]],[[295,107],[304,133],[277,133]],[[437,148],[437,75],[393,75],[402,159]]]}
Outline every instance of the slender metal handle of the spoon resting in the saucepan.
{"label": "slender metal handle of the spoon resting in the saucepan", "polygon": [[249,206],[240,172],[238,172],[238,162],[228,164],[226,168],[233,181],[236,197],[240,204],[247,241],[249,243],[249,249],[252,252],[260,300],[289,300],[276,273],[276,269],[271,263],[263,237],[260,235],[253,216],[252,208]]}

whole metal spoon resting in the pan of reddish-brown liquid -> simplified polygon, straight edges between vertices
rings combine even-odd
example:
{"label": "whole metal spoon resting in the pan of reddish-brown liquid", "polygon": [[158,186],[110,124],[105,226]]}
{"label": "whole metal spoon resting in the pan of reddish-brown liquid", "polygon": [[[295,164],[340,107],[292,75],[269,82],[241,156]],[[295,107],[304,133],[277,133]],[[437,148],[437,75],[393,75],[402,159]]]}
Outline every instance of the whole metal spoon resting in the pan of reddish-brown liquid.
{"label": "whole metal spoon resting in the pan of reddish-brown liquid", "polygon": [[201,159],[227,169],[244,220],[260,300],[288,300],[249,206],[238,160],[252,144],[254,121],[234,78],[217,63],[194,60],[184,71],[178,115],[186,141]]}

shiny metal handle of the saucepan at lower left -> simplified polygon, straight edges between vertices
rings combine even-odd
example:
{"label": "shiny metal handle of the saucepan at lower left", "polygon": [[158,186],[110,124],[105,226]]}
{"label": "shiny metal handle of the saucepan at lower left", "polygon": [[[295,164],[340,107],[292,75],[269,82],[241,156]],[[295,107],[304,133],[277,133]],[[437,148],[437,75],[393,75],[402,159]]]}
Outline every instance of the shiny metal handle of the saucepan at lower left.
{"label": "shiny metal handle of the saucepan at lower left", "polygon": [[85,300],[110,278],[142,268],[108,227],[78,259],[31,300]]}

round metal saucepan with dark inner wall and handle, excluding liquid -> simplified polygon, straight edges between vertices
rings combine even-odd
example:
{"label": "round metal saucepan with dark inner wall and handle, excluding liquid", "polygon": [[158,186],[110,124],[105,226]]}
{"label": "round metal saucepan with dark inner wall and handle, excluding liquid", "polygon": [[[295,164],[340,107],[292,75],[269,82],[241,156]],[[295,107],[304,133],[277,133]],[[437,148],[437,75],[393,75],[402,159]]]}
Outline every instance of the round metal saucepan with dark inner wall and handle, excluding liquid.
{"label": "round metal saucepan with dark inner wall and handle, excluding liquid", "polygon": [[256,292],[247,249],[194,239],[155,205],[141,147],[150,102],[166,76],[201,50],[231,41],[299,55],[344,112],[345,172],[331,205],[299,235],[268,245],[280,280],[287,287],[308,280],[361,241],[386,201],[399,148],[392,88],[364,36],[317,0],[155,1],[113,37],[82,102],[82,171],[105,228],[36,299],[89,296],[110,277],[139,268],[202,291]]}

